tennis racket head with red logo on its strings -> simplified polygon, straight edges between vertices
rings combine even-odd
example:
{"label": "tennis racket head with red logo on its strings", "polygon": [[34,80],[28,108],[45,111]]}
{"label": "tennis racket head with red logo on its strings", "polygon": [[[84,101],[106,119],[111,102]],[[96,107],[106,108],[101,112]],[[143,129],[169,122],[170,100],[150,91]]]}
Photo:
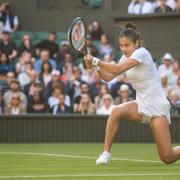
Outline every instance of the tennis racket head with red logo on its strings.
{"label": "tennis racket head with red logo on its strings", "polygon": [[86,26],[82,17],[73,20],[68,30],[68,41],[76,51],[83,51],[86,46]]}

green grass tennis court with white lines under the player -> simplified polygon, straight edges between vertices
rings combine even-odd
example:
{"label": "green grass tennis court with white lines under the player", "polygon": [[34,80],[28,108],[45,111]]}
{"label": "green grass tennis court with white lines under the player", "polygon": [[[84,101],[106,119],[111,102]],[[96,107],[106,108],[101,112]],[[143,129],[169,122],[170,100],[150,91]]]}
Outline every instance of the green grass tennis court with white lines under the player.
{"label": "green grass tennis court with white lines under the player", "polygon": [[112,162],[96,166],[102,144],[1,144],[0,180],[179,180],[180,162],[159,161],[154,144],[114,144]]}

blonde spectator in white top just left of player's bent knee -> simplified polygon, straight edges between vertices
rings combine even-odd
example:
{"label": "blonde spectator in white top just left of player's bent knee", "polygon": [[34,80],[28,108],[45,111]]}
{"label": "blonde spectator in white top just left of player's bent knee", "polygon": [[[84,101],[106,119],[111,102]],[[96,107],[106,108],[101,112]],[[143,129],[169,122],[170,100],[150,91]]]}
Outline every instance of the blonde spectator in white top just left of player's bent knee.
{"label": "blonde spectator in white top just left of player's bent knee", "polygon": [[96,110],[96,114],[109,115],[114,107],[112,96],[110,94],[105,94],[103,96],[103,105]]}

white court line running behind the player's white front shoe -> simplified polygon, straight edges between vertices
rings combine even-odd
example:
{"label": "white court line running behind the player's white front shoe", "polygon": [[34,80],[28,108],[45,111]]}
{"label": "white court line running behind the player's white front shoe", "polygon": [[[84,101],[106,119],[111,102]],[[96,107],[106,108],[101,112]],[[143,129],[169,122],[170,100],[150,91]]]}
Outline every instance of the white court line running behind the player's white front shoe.
{"label": "white court line running behind the player's white front shoe", "polygon": [[[0,152],[1,154],[14,154],[14,155],[32,155],[32,156],[49,156],[49,157],[66,157],[75,159],[97,159],[91,156],[75,156],[67,154],[49,154],[49,153],[28,153],[28,152]],[[145,162],[145,163],[161,163],[161,161],[143,160],[143,159],[129,159],[129,158],[112,158],[114,161],[130,161],[130,162]]]}

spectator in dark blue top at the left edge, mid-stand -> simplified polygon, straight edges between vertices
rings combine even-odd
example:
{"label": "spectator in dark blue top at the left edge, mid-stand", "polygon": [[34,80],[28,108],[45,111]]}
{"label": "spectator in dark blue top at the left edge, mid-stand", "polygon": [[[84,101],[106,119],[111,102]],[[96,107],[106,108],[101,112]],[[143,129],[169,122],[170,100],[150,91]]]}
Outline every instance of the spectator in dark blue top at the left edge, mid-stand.
{"label": "spectator in dark blue top at the left edge, mid-stand", "polygon": [[6,74],[14,70],[14,66],[9,62],[7,54],[0,53],[0,73]]}

